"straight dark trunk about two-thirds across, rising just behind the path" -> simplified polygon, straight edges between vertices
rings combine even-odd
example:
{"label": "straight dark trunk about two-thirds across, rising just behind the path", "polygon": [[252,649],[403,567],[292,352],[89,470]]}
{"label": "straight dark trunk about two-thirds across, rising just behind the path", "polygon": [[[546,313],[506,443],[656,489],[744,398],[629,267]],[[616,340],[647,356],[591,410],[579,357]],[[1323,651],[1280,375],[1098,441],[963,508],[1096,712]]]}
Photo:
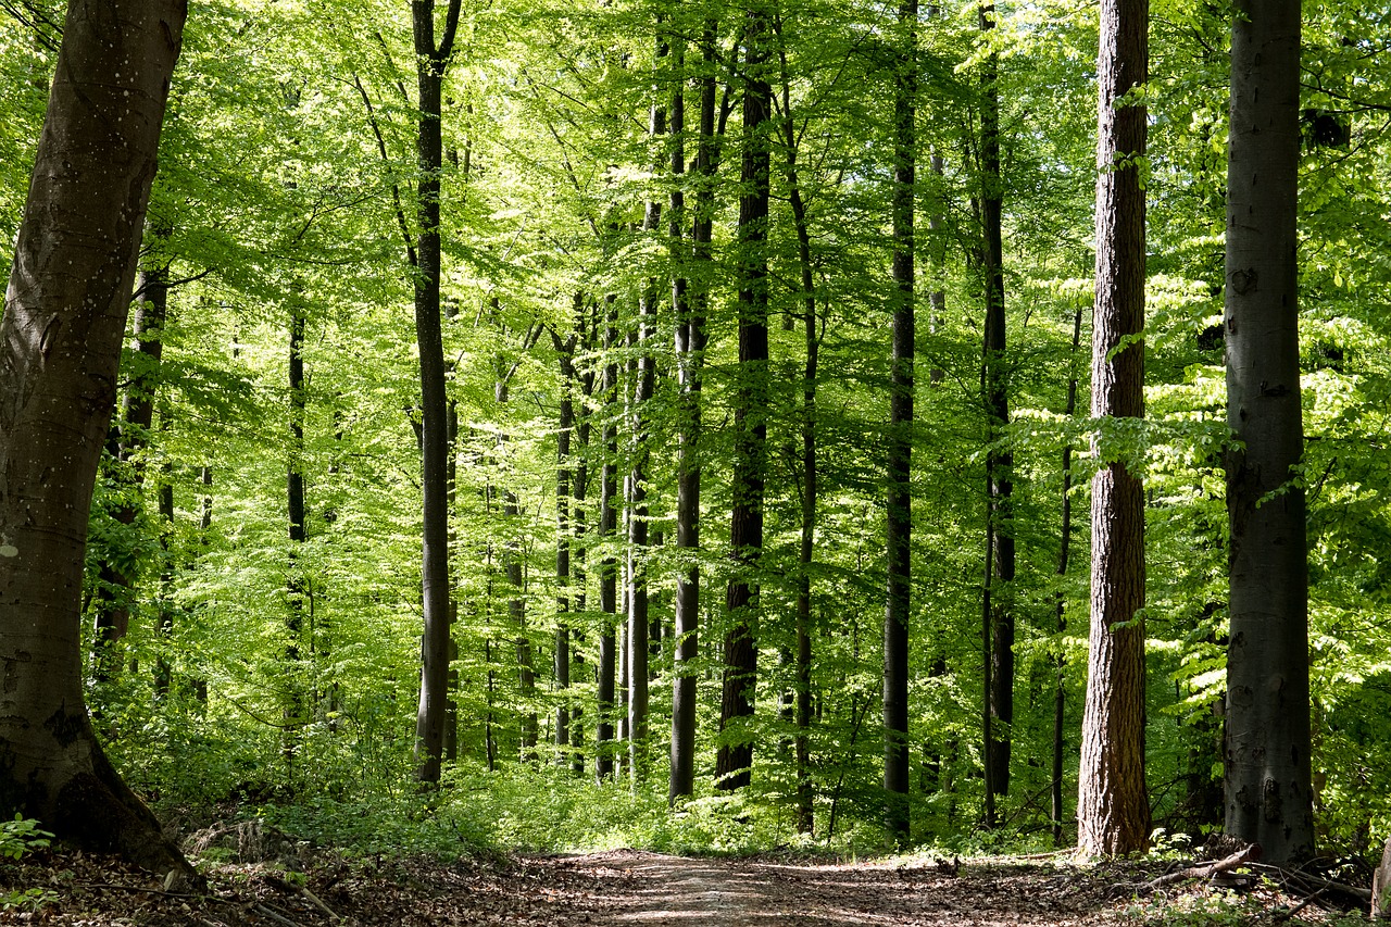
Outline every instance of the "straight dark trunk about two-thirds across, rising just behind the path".
{"label": "straight dark trunk about two-thirds across, rising just behind the path", "polygon": [[917,0],[899,4],[903,49],[893,82],[893,360],[889,386],[889,498],[885,547],[889,571],[883,617],[883,788],[887,825],[899,843],[908,839],[908,615],[912,590],[912,365],[914,266],[912,203],[917,170]]}

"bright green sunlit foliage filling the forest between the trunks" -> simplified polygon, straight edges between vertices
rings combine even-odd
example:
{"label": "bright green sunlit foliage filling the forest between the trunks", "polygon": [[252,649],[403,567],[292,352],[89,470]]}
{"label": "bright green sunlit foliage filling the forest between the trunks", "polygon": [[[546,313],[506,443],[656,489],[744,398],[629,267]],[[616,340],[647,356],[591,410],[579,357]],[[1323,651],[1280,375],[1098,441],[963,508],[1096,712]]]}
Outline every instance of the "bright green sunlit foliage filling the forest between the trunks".
{"label": "bright green sunlit foliage filling the forest between the trunks", "polygon": [[[1052,839],[1047,789],[1054,699],[1063,697],[1064,811],[1075,792],[1086,685],[1088,480],[1103,462],[1145,475],[1148,498],[1149,777],[1157,823],[1202,834],[1220,824],[1225,696],[1228,450],[1221,356],[1225,189],[1225,13],[1188,0],[1156,6],[1149,146],[1149,320],[1143,422],[1095,422],[1086,408],[1096,25],[1085,7],[1002,7],[982,36],[976,7],[919,24],[918,423],[914,430],[912,837],[947,848]],[[168,228],[171,315],[163,333],[157,418],[135,461],[108,459],[96,487],[83,625],[103,596],[132,607],[124,672],[92,682],[89,702],[117,767],[166,807],[264,814],[287,831],[362,852],[472,852],[644,845],[736,852],[771,845],[886,846],[879,830],[883,619],[883,423],[887,419],[887,111],[897,35],[889,7],[797,0],[783,11],[775,96],[794,150],[773,143],[771,468],[761,587],[754,785],[737,796],[708,781],[719,736],[722,607],[732,573],[730,409],[739,345],[736,182],[740,18],[684,4],[665,56],[652,10],[584,1],[502,0],[465,10],[449,70],[442,170],[445,356],[458,415],[452,589],[459,621],[459,759],[440,793],[412,781],[420,633],[419,452],[415,335],[399,219],[415,223],[410,26],[402,4],[202,3],[189,19],[171,99],[152,225]],[[714,22],[718,54],[701,60]],[[1306,100],[1348,122],[1346,148],[1308,145],[1302,306],[1308,452],[1292,475],[1310,500],[1310,628],[1319,821],[1331,843],[1363,849],[1391,827],[1385,615],[1391,605],[1391,102],[1369,61],[1384,13],[1306,3]],[[51,38],[51,36],[49,36]],[[51,47],[0,19],[0,227],[14,231],[42,118]],[[1006,202],[1004,358],[1011,420],[990,431],[981,395],[979,65],[1000,57]],[[684,67],[687,170],[668,167],[673,134],[648,132]],[[737,54],[736,54],[737,58]],[[783,67],[786,65],[786,72]],[[711,72],[711,68],[714,71]],[[698,79],[715,78],[723,113],[712,260],[689,248],[690,210],[707,181],[696,154]],[[677,75],[679,77],[679,75]],[[783,81],[786,84],[783,85]],[[370,113],[369,113],[370,106]],[[786,107],[786,109],[785,109]],[[939,171],[931,156],[942,157]],[[808,736],[815,830],[797,835],[797,771],[785,714],[797,686],[796,597],[801,518],[801,252],[786,166],[796,156],[817,308],[819,511],[812,589]],[[683,241],[669,248],[670,193],[686,198]],[[648,202],[666,210],[641,231]],[[398,213],[398,209],[401,210]],[[13,234],[11,234],[13,238]],[[666,544],[600,541],[598,470],[620,477],[637,451],[632,409],[583,380],[618,365],[632,395],[626,341],[638,299],[680,274],[708,295],[701,550],[675,532],[677,411],[675,319],[662,302],[651,344],[658,390],[647,409],[650,528]],[[657,281],[657,283],[652,283]],[[929,294],[940,292],[940,302]],[[602,347],[606,313],[618,344]],[[1082,313],[1081,347],[1072,326]],[[305,409],[291,430],[288,327],[306,320]],[[785,324],[779,324],[785,323]],[[551,333],[577,331],[581,426],[568,476],[587,472],[583,534],[572,509],[572,578],[555,579],[561,374]],[[1127,349],[1138,349],[1132,345]],[[142,355],[127,351],[122,388]],[[936,376],[932,374],[936,372]],[[1068,381],[1078,380],[1072,415]],[[501,397],[506,397],[505,401]],[[295,415],[299,415],[298,412]],[[616,426],[618,450],[602,429]],[[989,436],[989,437],[988,437]],[[1064,475],[1063,448],[1071,448]],[[1013,454],[1018,575],[993,592],[1015,611],[1017,714],[1010,795],[999,831],[982,831],[982,661],[989,452]],[[302,473],[303,543],[288,534],[287,473]],[[1059,575],[1071,501],[1071,565]],[[620,480],[622,482],[622,480]],[[172,516],[160,494],[172,496]],[[515,500],[504,508],[505,498]],[[134,521],[115,516],[125,507]],[[619,519],[622,525],[622,516]],[[583,557],[580,555],[583,548]],[[669,811],[665,731],[675,642],[655,650],[651,778],[594,785],[555,766],[558,708],[581,707],[576,750],[591,763],[600,562],[645,561],[654,615],[668,626],[677,568],[701,571],[698,795]],[[505,560],[520,564],[515,587]],[[103,579],[102,565],[127,578]],[[583,578],[580,572],[583,571]],[[580,601],[580,594],[584,601]],[[563,610],[558,604],[565,599]],[[551,681],[556,628],[572,632],[572,686]],[[520,644],[520,646],[519,646]],[[538,683],[523,685],[520,653]],[[538,717],[537,763],[519,718]],[[1067,835],[1064,835],[1067,837]],[[1213,912],[1217,917],[1223,912]],[[1196,916],[1196,914],[1195,914]],[[1207,914],[1203,914],[1207,916]]]}

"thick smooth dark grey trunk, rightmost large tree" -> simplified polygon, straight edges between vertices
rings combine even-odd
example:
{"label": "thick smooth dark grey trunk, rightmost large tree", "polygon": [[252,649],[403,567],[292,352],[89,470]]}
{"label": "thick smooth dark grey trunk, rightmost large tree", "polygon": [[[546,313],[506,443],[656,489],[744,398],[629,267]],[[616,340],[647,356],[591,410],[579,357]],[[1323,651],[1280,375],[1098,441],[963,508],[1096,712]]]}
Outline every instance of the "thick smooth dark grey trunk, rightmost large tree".
{"label": "thick smooth dark grey trunk, rightmost large tree", "polygon": [[1238,3],[1227,167],[1227,832],[1314,849],[1299,383],[1299,0]]}

